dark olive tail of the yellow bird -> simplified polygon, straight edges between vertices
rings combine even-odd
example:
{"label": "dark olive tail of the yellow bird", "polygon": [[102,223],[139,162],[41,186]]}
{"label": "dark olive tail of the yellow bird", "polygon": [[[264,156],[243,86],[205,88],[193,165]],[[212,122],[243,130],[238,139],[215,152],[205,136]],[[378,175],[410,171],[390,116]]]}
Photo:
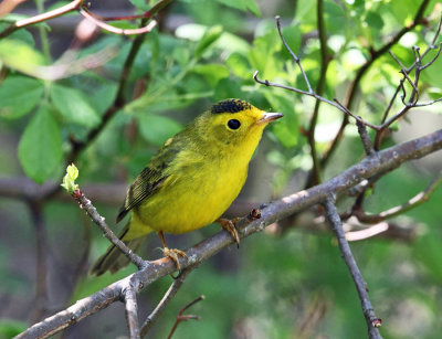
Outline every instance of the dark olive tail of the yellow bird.
{"label": "dark olive tail of the yellow bird", "polygon": [[[127,222],[126,226],[118,234],[118,237],[126,244],[127,247],[136,252],[145,240],[145,236],[125,240],[125,237],[128,237],[127,233],[129,231],[129,223],[130,221]],[[129,259],[127,258],[127,256],[124,255],[124,253],[118,247],[116,247],[115,245],[110,245],[107,248],[106,253],[103,254],[91,267],[90,274],[98,276],[104,274],[106,271],[109,271],[112,274],[114,274],[120,268],[127,266],[128,264]]]}

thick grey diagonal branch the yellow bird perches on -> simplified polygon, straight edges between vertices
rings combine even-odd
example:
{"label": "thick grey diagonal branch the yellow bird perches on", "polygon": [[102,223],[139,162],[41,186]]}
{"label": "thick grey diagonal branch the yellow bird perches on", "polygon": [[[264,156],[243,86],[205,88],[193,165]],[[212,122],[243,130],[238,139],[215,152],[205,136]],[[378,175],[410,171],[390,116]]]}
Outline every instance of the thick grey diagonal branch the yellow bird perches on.
{"label": "thick grey diagonal branch the yellow bird perches on", "polygon": [[[236,223],[240,237],[250,236],[278,220],[308,209],[317,203],[322,203],[329,194],[345,193],[365,179],[378,173],[386,173],[398,168],[406,161],[422,158],[440,149],[442,149],[442,129],[379,151],[378,157],[366,158],[322,184],[284,197],[269,204],[261,211],[260,219],[256,219],[256,214],[254,218],[248,216],[241,219]],[[233,240],[230,234],[222,231],[193,247],[188,248],[186,251],[187,259],[180,258],[180,266],[186,268],[191,265],[199,265],[232,243]],[[122,290],[124,290],[125,287],[133,286],[133,288],[138,292],[158,278],[169,275],[175,269],[176,265],[169,258],[150,262],[150,265],[147,267],[78,300],[73,306],[44,321],[33,325],[17,338],[48,338],[63,328],[119,300]]]}

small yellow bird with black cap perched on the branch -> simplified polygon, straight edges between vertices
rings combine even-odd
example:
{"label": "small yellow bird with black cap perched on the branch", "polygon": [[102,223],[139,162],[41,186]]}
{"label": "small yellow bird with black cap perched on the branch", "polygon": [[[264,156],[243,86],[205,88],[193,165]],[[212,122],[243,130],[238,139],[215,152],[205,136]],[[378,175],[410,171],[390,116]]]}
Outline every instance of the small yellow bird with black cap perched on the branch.
{"label": "small yellow bird with black cap perched on the branch", "polygon": [[[165,255],[179,268],[179,250],[169,250],[164,233],[185,233],[215,221],[240,193],[250,159],[264,127],[281,118],[240,99],[225,99],[202,113],[182,131],[166,141],[135,179],[117,216],[131,215],[119,234],[136,251],[155,231]],[[236,243],[230,221],[219,220]],[[114,245],[95,263],[91,273],[117,272],[128,259]]]}

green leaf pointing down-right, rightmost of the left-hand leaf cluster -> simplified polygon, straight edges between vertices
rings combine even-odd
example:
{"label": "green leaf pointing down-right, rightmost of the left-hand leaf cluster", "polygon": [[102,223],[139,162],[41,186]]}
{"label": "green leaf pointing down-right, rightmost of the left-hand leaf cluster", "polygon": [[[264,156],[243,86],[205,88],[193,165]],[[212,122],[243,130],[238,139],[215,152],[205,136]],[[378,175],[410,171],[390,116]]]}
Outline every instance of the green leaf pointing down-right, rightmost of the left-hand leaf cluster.
{"label": "green leaf pointing down-right, rightmost of the left-hand leaf cluster", "polygon": [[55,108],[67,121],[85,127],[99,124],[99,117],[78,89],[53,84],[50,94]]}

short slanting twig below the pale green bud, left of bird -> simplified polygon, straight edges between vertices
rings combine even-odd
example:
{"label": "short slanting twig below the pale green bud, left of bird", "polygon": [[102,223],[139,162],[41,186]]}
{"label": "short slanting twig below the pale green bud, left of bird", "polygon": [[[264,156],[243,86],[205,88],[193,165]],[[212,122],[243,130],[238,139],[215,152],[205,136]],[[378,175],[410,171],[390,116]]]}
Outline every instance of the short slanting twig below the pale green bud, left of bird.
{"label": "short slanting twig below the pale green bud, left of bird", "polygon": [[126,246],[124,242],[122,242],[114,232],[110,231],[109,226],[104,221],[104,218],[99,215],[95,206],[92,204],[91,200],[88,200],[82,191],[75,191],[73,198],[80,204],[80,208],[86,212],[86,214],[92,219],[92,221],[102,230],[103,235],[106,236],[116,247],[119,248],[126,255],[126,257],[135,264],[138,269],[146,267],[149,262],[144,261],[141,257],[136,255],[134,251]]}

